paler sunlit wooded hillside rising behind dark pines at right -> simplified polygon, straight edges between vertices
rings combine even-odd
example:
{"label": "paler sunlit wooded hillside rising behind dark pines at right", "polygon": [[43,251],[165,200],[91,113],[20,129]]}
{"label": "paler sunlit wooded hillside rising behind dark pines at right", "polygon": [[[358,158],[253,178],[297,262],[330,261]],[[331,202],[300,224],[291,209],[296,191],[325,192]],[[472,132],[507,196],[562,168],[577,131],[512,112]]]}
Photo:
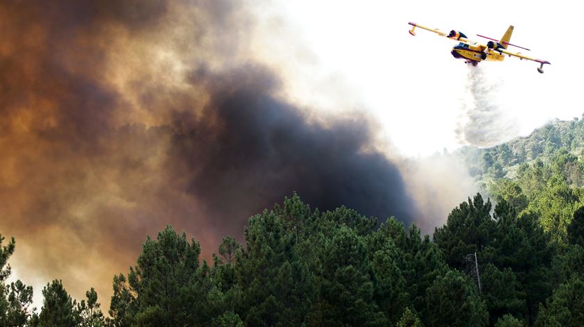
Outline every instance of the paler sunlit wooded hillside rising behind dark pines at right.
{"label": "paler sunlit wooded hillside rising behind dark pines at right", "polygon": [[483,194],[537,215],[554,242],[567,244],[567,226],[584,204],[584,119],[551,121],[528,137],[489,149],[464,147],[457,156]]}

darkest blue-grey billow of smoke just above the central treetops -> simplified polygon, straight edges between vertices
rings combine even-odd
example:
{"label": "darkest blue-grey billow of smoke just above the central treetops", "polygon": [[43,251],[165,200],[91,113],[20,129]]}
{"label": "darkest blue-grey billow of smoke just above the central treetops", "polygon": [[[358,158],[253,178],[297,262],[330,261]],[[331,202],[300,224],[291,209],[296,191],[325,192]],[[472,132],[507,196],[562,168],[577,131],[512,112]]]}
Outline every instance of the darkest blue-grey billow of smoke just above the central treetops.
{"label": "darkest blue-grey billow of smoke just above the central treetops", "polygon": [[245,214],[291,191],[323,210],[344,204],[364,215],[411,221],[413,204],[400,172],[382,153],[367,149],[372,135],[366,118],[311,123],[269,95],[272,80],[254,67],[231,72],[209,90],[199,117],[177,117],[172,153],[182,165],[179,178],[188,179],[187,192],[218,217],[238,219],[239,229]]}

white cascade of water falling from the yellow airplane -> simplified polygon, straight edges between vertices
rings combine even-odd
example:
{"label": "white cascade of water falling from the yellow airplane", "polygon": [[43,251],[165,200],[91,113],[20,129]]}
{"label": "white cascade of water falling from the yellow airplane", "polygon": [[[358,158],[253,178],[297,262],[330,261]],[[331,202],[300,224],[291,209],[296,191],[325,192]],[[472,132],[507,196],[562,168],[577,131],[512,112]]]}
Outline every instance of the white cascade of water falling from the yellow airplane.
{"label": "white cascade of water falling from the yellow airplane", "polygon": [[480,65],[468,65],[468,69],[462,119],[456,131],[460,142],[488,147],[519,135],[519,124],[498,99],[500,82],[492,81]]}

